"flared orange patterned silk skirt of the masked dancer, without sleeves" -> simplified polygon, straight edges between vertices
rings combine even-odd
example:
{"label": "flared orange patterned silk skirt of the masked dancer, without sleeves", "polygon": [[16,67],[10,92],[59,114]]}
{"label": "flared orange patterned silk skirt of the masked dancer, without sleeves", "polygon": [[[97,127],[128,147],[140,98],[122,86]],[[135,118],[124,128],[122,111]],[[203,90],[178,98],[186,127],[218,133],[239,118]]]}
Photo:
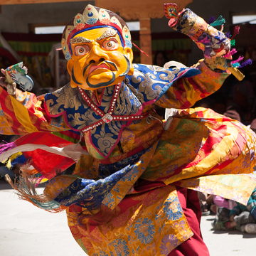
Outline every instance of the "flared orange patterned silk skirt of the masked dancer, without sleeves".
{"label": "flared orange patterned silk skirt of the masked dancer, without sleeves", "polygon": [[[88,255],[168,255],[193,235],[174,185],[246,204],[255,188],[249,175],[256,162],[255,142],[252,130],[212,110],[179,110],[159,144],[137,164],[133,179],[151,186],[119,181],[100,210],[70,206],[68,225],[75,240]],[[76,173],[96,178],[99,164],[82,156]],[[54,198],[73,179],[67,181],[58,177],[46,188],[48,196]]]}

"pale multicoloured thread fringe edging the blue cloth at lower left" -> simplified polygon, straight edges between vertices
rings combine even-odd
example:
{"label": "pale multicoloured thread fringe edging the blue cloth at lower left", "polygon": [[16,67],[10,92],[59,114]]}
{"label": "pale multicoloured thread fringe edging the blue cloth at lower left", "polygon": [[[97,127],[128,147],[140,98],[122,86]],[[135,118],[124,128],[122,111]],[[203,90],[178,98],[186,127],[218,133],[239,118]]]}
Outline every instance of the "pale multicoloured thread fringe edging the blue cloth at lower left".
{"label": "pale multicoloured thread fringe edging the blue cloth at lower left", "polygon": [[13,182],[11,181],[9,175],[6,174],[6,180],[16,190],[18,198],[26,200],[38,208],[46,210],[50,213],[60,213],[66,208],[66,206],[62,206],[60,203],[53,201],[45,193],[38,195],[35,186],[36,177],[34,177],[31,181],[26,174],[21,173],[19,176],[19,181]]}

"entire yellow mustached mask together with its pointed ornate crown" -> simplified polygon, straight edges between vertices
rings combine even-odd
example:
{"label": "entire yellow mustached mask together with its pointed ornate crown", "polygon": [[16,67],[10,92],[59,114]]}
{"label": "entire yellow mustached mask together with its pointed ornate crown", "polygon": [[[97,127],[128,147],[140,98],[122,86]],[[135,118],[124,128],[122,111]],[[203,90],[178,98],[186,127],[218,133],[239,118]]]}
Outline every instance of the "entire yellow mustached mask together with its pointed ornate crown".
{"label": "entire yellow mustached mask together with its pointed ornate crown", "polygon": [[65,27],[61,46],[71,87],[97,90],[133,73],[129,28],[112,11],[88,4]]}

